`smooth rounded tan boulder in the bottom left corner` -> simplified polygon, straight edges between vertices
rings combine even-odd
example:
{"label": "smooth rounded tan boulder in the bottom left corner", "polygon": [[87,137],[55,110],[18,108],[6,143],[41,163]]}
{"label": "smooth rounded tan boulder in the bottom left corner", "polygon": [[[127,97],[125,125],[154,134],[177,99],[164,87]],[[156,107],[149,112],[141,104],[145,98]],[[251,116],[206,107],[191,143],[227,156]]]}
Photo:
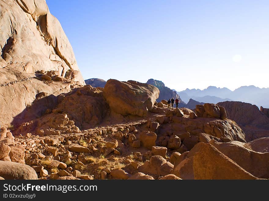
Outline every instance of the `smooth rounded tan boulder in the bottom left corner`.
{"label": "smooth rounded tan boulder in the bottom left corner", "polygon": [[0,161],[0,177],[5,179],[37,179],[35,170],[25,164]]}

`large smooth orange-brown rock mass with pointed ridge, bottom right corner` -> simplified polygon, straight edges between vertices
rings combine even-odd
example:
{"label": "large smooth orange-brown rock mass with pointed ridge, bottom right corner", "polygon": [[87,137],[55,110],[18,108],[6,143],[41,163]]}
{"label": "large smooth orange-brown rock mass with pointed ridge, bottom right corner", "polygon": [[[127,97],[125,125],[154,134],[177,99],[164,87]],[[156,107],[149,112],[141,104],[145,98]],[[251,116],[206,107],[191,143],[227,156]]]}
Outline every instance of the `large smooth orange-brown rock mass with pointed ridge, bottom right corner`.
{"label": "large smooth orange-brown rock mass with pointed ridge, bottom right corner", "polygon": [[[198,143],[191,151],[177,158],[172,173],[182,179],[267,178],[264,173],[267,172],[268,152],[258,153],[246,147],[249,147],[248,143],[236,141]],[[257,158],[261,160],[258,162],[259,169],[255,170],[253,167]]]}

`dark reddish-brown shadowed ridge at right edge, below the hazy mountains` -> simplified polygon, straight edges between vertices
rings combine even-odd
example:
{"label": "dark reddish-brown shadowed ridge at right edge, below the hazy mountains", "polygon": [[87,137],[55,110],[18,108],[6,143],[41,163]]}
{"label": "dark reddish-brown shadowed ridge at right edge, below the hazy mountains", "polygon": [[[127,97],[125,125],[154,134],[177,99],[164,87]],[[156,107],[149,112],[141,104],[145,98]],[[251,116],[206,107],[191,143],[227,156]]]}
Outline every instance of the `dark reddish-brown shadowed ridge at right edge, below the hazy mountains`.
{"label": "dark reddish-brown shadowed ridge at right edge, below the hazy mountains", "polygon": [[269,136],[269,118],[256,105],[238,101],[219,102],[227,112],[227,118],[234,120],[245,132],[246,141]]}

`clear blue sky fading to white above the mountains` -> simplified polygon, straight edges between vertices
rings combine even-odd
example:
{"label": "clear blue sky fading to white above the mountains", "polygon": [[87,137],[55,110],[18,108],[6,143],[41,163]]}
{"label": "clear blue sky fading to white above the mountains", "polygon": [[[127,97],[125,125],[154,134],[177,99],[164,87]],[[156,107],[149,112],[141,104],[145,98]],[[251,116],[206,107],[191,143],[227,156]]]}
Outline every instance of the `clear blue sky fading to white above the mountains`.
{"label": "clear blue sky fading to white above the mountains", "polygon": [[46,0],[84,79],[269,87],[268,0]]}

